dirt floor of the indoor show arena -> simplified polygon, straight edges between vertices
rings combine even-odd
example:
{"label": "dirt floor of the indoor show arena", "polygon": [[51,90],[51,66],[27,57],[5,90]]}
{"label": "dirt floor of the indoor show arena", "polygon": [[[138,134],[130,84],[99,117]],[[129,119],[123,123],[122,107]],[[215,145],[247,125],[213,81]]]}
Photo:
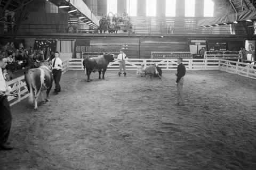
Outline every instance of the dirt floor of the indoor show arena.
{"label": "dirt floor of the indoor show arena", "polygon": [[177,106],[174,71],[127,73],[68,71],[37,112],[12,106],[15,149],[0,151],[0,169],[255,169],[256,80],[187,71]]}

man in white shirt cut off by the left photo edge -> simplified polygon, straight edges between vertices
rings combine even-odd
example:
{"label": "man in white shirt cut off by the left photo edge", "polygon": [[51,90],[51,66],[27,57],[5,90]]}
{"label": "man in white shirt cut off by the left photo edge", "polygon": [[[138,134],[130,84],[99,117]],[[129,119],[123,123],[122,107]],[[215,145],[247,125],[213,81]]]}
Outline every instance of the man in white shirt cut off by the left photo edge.
{"label": "man in white shirt cut off by the left photo edge", "polygon": [[7,142],[11,130],[12,114],[8,95],[13,95],[10,86],[7,86],[2,69],[7,65],[7,58],[0,55],[0,150],[11,150],[10,142]]}

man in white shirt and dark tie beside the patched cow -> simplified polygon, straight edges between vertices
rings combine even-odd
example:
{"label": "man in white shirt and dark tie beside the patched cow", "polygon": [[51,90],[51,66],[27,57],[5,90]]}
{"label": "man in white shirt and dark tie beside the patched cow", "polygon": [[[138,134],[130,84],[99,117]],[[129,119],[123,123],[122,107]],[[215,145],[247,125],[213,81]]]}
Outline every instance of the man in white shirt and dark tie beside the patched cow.
{"label": "man in white shirt and dark tie beside the patched cow", "polygon": [[61,78],[61,67],[62,67],[62,61],[60,60],[60,54],[59,52],[54,53],[55,58],[52,59],[52,74],[53,74],[53,80],[55,83],[55,89],[53,91],[54,95],[58,95],[58,93],[61,91],[60,88],[60,78]]}

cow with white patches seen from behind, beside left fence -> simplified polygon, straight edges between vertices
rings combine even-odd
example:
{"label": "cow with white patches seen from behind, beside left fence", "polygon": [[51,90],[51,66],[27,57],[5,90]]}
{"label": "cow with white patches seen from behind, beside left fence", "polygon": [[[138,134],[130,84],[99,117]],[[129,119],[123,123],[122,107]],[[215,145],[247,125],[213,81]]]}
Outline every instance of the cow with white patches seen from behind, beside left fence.
{"label": "cow with white patches seen from behind, beside left fence", "polygon": [[[25,73],[25,81],[30,92],[29,101],[30,103],[34,101],[34,110],[37,111],[37,101],[40,94],[42,96],[42,104],[49,101],[49,92],[51,91],[53,81],[50,65],[47,62],[41,61],[38,68],[29,69]],[[46,99],[44,99],[44,90],[46,90]]]}

